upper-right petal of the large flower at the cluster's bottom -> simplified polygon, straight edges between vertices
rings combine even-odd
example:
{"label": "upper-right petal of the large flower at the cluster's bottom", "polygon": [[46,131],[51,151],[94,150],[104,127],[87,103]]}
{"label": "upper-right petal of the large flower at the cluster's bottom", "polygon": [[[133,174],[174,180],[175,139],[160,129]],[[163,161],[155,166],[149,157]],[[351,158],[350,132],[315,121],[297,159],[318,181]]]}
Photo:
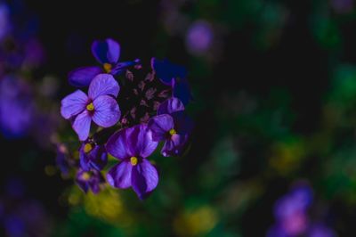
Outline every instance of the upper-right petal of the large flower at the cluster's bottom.
{"label": "upper-right petal of the large flower at the cluster's bottom", "polygon": [[156,150],[158,142],[153,141],[152,132],[147,125],[136,125],[131,127],[133,132],[127,137],[128,147],[135,156],[149,157]]}

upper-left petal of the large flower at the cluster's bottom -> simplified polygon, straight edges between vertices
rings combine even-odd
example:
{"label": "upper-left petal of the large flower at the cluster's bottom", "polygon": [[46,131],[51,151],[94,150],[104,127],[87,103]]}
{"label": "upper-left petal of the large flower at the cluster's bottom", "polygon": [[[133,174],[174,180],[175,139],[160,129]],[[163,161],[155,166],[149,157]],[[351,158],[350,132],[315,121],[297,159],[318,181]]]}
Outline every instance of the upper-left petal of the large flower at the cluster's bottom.
{"label": "upper-left petal of the large flower at the cluster's bottom", "polygon": [[109,137],[106,151],[117,159],[128,159],[134,154],[128,149],[127,137],[132,133],[132,128],[125,128]]}

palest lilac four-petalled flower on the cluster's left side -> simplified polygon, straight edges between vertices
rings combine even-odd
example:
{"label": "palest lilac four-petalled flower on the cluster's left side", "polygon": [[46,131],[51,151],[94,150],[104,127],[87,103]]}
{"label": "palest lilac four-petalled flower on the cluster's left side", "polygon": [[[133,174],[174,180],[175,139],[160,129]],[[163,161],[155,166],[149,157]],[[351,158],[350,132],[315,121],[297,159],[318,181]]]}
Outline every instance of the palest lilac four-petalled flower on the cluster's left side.
{"label": "palest lilac four-petalled flower on the cluster's left side", "polygon": [[61,101],[61,116],[64,119],[75,118],[72,127],[80,141],[88,138],[92,119],[101,127],[111,127],[120,119],[117,101],[111,97],[117,97],[119,88],[111,75],[99,74],[90,83],[88,96],[77,90]]}

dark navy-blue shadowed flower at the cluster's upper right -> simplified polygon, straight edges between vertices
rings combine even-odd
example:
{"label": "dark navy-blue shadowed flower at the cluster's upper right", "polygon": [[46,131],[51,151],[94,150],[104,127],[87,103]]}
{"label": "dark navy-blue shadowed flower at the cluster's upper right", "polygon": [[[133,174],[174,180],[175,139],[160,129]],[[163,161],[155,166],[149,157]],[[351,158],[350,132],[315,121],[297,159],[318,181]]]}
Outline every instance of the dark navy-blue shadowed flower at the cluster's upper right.
{"label": "dark navy-blue shadowed flower at the cluster's upper right", "polygon": [[163,84],[172,86],[174,97],[180,99],[185,105],[191,101],[192,95],[187,81],[186,69],[170,61],[160,61],[156,58],[152,58],[151,67]]}

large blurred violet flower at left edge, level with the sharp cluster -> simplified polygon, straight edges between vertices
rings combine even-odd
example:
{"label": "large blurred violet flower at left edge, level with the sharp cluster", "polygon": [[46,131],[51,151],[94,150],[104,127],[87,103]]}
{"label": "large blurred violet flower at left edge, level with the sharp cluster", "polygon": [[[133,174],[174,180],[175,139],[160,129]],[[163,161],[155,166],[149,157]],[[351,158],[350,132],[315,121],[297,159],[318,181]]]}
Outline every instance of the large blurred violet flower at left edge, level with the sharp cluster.
{"label": "large blurred violet flower at left edge, level with the sharp cluster", "polygon": [[0,129],[5,137],[27,135],[34,110],[30,87],[23,80],[12,76],[0,80]]}

